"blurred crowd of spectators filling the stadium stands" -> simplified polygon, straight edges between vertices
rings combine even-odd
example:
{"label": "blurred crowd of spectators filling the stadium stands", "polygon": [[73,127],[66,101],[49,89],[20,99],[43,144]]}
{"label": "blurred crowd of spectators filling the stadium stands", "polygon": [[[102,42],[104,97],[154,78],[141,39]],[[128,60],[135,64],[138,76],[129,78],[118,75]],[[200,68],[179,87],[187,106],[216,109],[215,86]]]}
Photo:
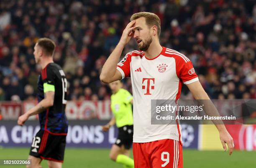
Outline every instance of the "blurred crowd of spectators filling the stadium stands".
{"label": "blurred crowd of spectators filling the stadium stands", "polygon": [[[1,0],[0,101],[36,98],[41,68],[33,47],[41,37],[56,43],[54,62],[69,81],[68,100],[110,99],[99,79],[102,65],[140,11],[159,16],[161,45],[192,61],[211,99],[256,98],[253,0]],[[131,41],[123,56],[137,49]],[[130,79],[124,87],[131,92]],[[186,87],[182,97],[192,98]]]}

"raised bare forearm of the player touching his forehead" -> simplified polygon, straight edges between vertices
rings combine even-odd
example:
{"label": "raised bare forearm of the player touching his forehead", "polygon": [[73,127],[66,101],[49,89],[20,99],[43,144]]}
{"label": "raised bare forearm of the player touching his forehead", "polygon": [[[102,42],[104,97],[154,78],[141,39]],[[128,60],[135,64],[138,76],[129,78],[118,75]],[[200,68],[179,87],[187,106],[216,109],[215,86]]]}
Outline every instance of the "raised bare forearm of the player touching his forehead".
{"label": "raised bare forearm of the player touching his forehead", "polygon": [[122,43],[118,43],[113,52],[108,57],[107,61],[102,67],[102,71],[100,74],[100,80],[106,81],[115,75],[116,66],[122,54],[124,45]]}

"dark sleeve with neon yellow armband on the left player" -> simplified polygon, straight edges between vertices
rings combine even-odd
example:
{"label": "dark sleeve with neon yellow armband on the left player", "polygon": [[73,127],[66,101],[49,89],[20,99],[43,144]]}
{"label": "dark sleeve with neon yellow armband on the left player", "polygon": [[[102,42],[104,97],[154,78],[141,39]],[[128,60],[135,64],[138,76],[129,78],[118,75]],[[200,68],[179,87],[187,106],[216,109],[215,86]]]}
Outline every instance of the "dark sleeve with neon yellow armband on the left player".
{"label": "dark sleeve with neon yellow armband on the left player", "polygon": [[55,91],[55,74],[54,71],[50,69],[50,67],[46,67],[42,70],[42,81],[44,86],[44,93],[49,91]]}

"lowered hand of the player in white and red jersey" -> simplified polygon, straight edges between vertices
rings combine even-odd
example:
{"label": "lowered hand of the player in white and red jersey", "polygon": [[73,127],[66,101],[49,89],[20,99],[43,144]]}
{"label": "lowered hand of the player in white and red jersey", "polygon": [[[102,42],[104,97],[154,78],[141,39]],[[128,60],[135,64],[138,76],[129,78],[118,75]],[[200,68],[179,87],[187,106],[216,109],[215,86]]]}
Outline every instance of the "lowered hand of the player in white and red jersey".
{"label": "lowered hand of the player in white and red jersey", "polygon": [[223,131],[220,132],[220,141],[223,145],[223,149],[224,151],[227,150],[226,144],[228,144],[228,149],[229,149],[229,155],[232,154],[233,150],[234,150],[234,141],[233,138],[231,137],[231,135],[228,133],[228,131]]}

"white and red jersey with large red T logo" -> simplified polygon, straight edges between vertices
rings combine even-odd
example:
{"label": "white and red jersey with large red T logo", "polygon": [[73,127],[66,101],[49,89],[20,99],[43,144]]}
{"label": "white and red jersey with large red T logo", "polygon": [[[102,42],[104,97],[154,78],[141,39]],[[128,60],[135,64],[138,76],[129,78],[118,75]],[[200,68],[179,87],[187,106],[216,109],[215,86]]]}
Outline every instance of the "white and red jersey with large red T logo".
{"label": "white and red jersey with large red T logo", "polygon": [[117,69],[122,79],[131,77],[133,142],[181,140],[179,124],[151,125],[151,99],[179,99],[183,83],[198,81],[192,62],[182,53],[163,47],[154,59],[146,58],[143,51],[127,53],[118,63]]}

